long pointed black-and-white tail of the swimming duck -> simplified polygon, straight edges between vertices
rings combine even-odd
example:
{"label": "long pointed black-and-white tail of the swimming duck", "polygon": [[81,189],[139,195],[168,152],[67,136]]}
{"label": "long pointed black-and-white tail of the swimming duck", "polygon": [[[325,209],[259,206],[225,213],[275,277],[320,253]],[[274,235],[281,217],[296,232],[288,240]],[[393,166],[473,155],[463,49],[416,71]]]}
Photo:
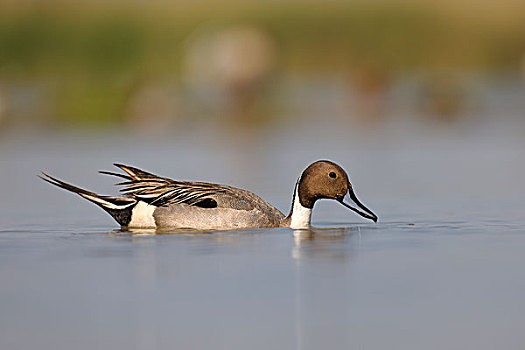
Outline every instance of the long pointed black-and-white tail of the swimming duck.
{"label": "long pointed black-and-white tail of the swimming duck", "polygon": [[58,180],[57,178],[54,178],[44,172],[42,172],[42,175],[43,176],[37,176],[52,185],[76,193],[88,201],[95,203],[108,212],[109,215],[111,215],[120,225],[126,226],[131,221],[131,211],[137,204],[135,199],[126,197],[102,196]]}

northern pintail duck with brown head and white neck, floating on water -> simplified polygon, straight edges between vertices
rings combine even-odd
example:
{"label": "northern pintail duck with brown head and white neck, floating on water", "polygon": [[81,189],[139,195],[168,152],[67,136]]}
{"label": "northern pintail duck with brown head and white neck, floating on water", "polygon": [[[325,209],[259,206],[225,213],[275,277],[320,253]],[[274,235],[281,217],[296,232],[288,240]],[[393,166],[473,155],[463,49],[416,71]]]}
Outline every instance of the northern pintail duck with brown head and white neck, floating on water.
{"label": "northern pintail duck with brown head and white neck, floating on water", "polygon": [[[42,173],[44,181],[95,203],[122,227],[239,229],[262,227],[310,227],[317,200],[335,199],[361,216],[377,221],[377,216],[357,199],[346,172],[337,164],[322,160],[312,163],[295,185],[292,208],[285,216],[259,196],[231,186],[205,182],[176,181],[143,170],[115,164],[126,175],[108,171],[102,174],[124,178],[122,196],[103,196]],[[361,209],[344,201],[350,199]]]}

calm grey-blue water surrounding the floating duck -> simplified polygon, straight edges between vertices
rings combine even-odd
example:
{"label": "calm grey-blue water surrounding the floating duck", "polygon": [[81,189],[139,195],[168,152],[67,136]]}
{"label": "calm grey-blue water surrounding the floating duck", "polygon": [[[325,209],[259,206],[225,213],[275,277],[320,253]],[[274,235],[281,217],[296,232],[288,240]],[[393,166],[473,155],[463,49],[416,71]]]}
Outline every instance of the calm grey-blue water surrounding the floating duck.
{"label": "calm grey-blue water surrounding the floating duck", "polygon": [[[511,129],[7,135],[0,348],[520,349],[525,144]],[[349,170],[377,224],[324,201],[311,231],[122,232],[35,177],[114,193],[96,170],[118,161],[287,212],[323,158]]]}

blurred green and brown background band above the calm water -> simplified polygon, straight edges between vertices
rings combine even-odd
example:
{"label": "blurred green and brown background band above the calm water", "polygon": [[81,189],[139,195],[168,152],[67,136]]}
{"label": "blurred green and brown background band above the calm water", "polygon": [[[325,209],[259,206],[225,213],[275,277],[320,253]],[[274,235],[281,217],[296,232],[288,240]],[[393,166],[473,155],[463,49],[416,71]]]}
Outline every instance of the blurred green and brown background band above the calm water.
{"label": "blurred green and brown background band above the calm water", "polygon": [[524,130],[520,0],[0,4],[3,132]]}

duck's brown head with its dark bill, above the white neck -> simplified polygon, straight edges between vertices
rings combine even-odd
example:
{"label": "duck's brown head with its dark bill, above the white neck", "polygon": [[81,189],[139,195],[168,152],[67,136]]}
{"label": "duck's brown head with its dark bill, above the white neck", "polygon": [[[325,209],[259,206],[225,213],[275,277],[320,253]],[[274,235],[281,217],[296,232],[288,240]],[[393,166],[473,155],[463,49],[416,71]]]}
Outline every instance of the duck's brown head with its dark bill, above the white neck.
{"label": "duck's brown head with its dark bill, above the white neck", "polygon": [[[297,194],[305,208],[312,209],[318,199],[335,199],[359,215],[377,222],[377,216],[357,199],[343,168],[328,160],[312,163],[303,171]],[[362,211],[344,201],[347,194]]]}

